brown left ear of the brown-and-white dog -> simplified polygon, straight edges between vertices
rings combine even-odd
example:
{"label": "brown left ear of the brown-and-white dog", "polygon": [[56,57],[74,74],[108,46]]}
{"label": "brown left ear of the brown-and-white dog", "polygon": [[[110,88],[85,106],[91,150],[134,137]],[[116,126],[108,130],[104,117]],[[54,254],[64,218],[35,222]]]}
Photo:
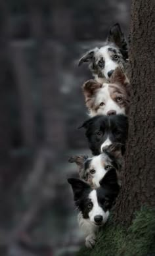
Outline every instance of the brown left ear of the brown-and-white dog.
{"label": "brown left ear of the brown-and-white dog", "polygon": [[82,86],[82,90],[85,95],[85,101],[87,101],[87,99],[91,97],[95,93],[95,91],[101,87],[102,87],[102,84],[98,83],[93,79],[85,82],[85,84],[83,84]]}

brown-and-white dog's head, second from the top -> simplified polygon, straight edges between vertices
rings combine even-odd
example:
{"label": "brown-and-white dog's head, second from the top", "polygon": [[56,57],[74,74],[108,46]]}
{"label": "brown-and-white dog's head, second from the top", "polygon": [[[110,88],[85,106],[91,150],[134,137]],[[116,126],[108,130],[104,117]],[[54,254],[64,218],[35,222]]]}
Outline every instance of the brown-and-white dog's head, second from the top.
{"label": "brown-and-white dog's head, second from the top", "polygon": [[120,68],[116,68],[109,83],[88,80],[82,86],[89,116],[128,115],[130,84]]}

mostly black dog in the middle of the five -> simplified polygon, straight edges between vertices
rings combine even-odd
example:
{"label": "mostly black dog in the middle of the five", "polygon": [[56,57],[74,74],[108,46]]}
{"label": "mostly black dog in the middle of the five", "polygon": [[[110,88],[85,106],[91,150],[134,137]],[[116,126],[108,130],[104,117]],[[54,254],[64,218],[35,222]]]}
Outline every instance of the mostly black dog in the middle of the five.
{"label": "mostly black dog in the middle of the five", "polygon": [[86,120],[79,128],[85,128],[85,135],[93,155],[100,155],[105,147],[113,143],[122,144],[122,154],[125,152],[128,132],[127,116],[98,115]]}

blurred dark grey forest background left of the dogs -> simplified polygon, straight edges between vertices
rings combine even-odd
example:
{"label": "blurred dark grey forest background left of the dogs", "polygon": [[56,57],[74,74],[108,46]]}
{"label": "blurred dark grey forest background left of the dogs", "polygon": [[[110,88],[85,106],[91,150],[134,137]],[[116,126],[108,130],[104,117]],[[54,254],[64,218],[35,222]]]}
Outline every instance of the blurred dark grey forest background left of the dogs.
{"label": "blurred dark grey forest background left of the dogs", "polygon": [[0,255],[69,256],[83,238],[66,178],[68,157],[90,154],[78,68],[120,22],[129,0],[1,0]]}

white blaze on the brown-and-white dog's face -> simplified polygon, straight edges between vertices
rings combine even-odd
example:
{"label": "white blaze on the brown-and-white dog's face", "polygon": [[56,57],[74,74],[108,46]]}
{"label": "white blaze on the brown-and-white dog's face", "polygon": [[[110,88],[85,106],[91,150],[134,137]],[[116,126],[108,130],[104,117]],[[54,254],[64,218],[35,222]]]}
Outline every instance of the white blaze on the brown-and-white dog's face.
{"label": "white blaze on the brown-and-white dog's face", "polygon": [[110,96],[109,84],[104,83],[102,88],[97,91],[95,105],[104,103],[96,111],[96,115],[107,115],[108,111],[116,111],[116,115],[125,114],[125,108],[121,108]]}

